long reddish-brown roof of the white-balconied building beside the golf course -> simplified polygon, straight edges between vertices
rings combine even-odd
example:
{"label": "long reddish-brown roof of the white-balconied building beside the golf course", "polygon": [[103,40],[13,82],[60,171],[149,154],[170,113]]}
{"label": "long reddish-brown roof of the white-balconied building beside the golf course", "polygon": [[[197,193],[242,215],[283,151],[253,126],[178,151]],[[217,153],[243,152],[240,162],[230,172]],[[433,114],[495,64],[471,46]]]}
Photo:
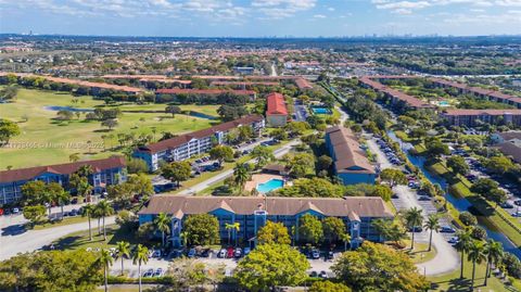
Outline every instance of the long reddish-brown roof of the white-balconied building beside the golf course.
{"label": "long reddish-brown roof of the white-balconied building beside the golf course", "polygon": [[192,139],[201,139],[204,137],[209,137],[218,131],[227,131],[229,129],[239,127],[240,125],[250,125],[252,123],[258,123],[263,120],[264,117],[262,115],[247,115],[231,122],[223,123],[206,129],[192,131],[189,134],[185,134],[178,137],[174,137],[171,139],[163,140],[156,143],[151,143],[144,147],[140,147],[140,151],[147,151],[151,153],[157,153],[160,151],[164,151],[167,149],[175,149],[178,148]]}

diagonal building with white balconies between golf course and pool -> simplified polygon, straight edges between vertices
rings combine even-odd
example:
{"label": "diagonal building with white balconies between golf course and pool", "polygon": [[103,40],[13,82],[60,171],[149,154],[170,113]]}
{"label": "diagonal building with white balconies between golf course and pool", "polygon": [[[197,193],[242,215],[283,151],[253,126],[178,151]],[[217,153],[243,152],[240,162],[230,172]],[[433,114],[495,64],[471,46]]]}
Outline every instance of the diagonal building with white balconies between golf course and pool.
{"label": "diagonal building with white balconies between golf course and pool", "polygon": [[155,172],[160,162],[188,160],[194,155],[208,152],[214,145],[225,143],[226,135],[238,127],[251,126],[256,136],[265,127],[262,115],[249,115],[217,126],[185,134],[171,139],[140,147],[132,156],[147,162],[149,169]]}

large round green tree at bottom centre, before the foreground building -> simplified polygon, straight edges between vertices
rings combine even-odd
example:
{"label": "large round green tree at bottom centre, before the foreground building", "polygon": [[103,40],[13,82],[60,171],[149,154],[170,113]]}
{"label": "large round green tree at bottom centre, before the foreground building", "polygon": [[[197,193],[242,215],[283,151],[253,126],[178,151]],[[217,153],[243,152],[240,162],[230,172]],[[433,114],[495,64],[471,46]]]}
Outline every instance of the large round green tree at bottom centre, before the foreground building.
{"label": "large round green tree at bottom centre, before the foreground building", "polygon": [[272,291],[302,283],[308,268],[306,257],[289,245],[260,244],[239,262],[234,278],[247,291]]}

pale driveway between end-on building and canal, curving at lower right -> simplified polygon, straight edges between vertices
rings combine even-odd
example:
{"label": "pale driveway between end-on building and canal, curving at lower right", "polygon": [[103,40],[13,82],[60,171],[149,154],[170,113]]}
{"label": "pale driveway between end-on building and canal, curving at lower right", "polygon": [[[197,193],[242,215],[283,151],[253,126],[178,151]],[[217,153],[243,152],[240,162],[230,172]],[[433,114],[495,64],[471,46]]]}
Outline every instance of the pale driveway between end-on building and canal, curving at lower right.
{"label": "pale driveway between end-on building and canal, curving at lower right", "polygon": [[[391,164],[385,154],[380,150],[373,139],[368,139],[367,144],[372,153],[377,156],[381,169],[384,168],[399,168]],[[421,208],[423,216],[435,214],[436,208],[431,201],[418,201],[416,191],[412,191],[406,186],[394,187],[394,192],[398,194],[397,199],[392,199],[392,202],[397,211],[405,211],[411,207]],[[441,225],[448,225],[445,218],[441,219]],[[420,272],[427,276],[440,275],[450,272],[459,267],[459,255],[456,250],[447,242],[452,234],[437,233],[432,234],[432,245],[437,253],[431,261],[416,266]],[[415,234],[415,240],[419,242],[429,242],[429,232],[422,231]]]}

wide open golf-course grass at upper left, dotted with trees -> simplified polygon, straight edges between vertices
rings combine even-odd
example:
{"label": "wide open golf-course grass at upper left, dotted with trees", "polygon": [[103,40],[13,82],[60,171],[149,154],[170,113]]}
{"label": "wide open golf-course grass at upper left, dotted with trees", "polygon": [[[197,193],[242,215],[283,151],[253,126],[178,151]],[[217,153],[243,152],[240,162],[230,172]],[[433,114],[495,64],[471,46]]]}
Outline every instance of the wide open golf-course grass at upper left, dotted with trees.
{"label": "wide open golf-course grass at upper left, dotted with trees", "polygon": [[[79,99],[74,104],[73,99]],[[18,122],[22,134],[11,140],[20,143],[16,148],[2,148],[0,154],[0,169],[11,165],[13,168],[29,167],[37,165],[67,163],[68,156],[79,153],[81,160],[107,157],[117,153],[109,150],[118,145],[117,134],[153,135],[152,128],[156,129],[155,139],[161,137],[162,131],[170,131],[175,135],[189,132],[212,126],[218,120],[209,120],[187,115],[170,115],[163,113],[124,113],[118,118],[119,125],[109,131],[102,128],[100,122],[85,122],[85,114],[69,122],[58,122],[56,112],[46,110],[45,106],[75,106],[80,109],[93,109],[101,106],[102,101],[91,97],[76,98],[68,93],[50,92],[41,90],[20,89],[17,99],[13,103],[0,104],[2,117]],[[164,104],[123,105],[134,110],[164,110]],[[182,105],[182,110],[215,115],[216,105]],[[23,116],[28,118],[23,122]],[[105,137],[105,139],[102,138]],[[87,142],[91,142],[89,148]],[[24,145],[23,143],[29,143]],[[72,145],[73,144],[73,145]],[[107,149],[104,149],[107,148]]]}

